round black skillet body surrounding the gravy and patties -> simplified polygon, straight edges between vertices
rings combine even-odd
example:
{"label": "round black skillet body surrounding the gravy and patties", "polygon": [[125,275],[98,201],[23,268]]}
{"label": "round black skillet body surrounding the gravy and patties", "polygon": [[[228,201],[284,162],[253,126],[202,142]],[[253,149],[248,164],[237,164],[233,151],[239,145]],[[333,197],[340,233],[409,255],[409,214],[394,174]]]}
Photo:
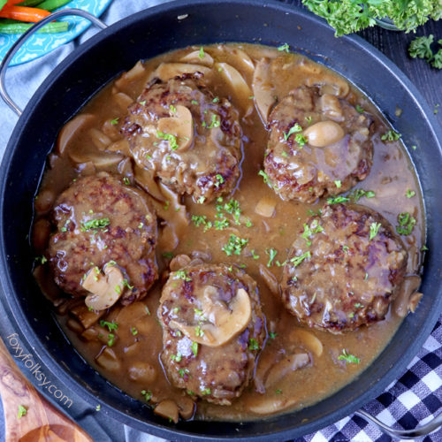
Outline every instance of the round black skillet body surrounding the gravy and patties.
{"label": "round black skillet body surrounding the gravy and patties", "polygon": [[[342,73],[369,95],[402,133],[406,146],[417,146],[408,153],[423,189],[430,252],[423,270],[424,296],[415,314],[407,316],[377,360],[347,387],[312,407],[255,422],[173,425],[110,385],[76,353],[31,275],[34,257],[28,232],[34,194],[60,127],[104,84],[140,58],[214,42],[287,42],[292,50]],[[403,110],[400,118],[395,117],[396,106]],[[104,29],[66,57],[34,94],[11,135],[0,171],[4,309],[24,346],[32,348],[44,370],[67,392],[79,395],[93,408],[97,401],[102,403],[107,415],[135,429],[179,440],[276,440],[316,431],[382,392],[422,347],[442,311],[441,139],[429,106],[395,65],[358,37],[336,39],[330,27],[305,11],[260,0],[179,1],[141,11]],[[49,399],[57,402],[52,396]]]}

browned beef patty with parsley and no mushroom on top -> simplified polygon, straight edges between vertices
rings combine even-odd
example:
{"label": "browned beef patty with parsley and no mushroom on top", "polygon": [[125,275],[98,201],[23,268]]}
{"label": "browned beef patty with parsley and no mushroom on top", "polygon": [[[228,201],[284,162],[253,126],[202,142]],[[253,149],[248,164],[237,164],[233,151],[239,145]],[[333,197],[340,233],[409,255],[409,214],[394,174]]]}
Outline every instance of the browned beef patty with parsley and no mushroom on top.
{"label": "browned beef patty with parsley and no mushroom on top", "polygon": [[354,330],[384,319],[407,258],[392,226],[377,212],[356,204],[326,205],[293,243],[282,300],[310,327]]}

